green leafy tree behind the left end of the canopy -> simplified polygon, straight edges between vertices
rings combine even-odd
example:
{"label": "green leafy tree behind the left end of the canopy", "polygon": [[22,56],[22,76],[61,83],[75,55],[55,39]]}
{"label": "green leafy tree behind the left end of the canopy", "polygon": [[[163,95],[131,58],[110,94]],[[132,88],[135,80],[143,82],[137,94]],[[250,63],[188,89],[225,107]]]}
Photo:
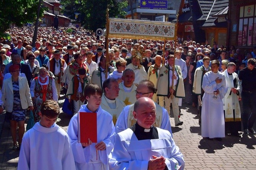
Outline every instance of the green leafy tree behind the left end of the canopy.
{"label": "green leafy tree behind the left end of the canopy", "polygon": [[74,13],[81,13],[76,22],[81,20],[82,26],[93,31],[106,27],[108,5],[110,18],[125,18],[126,12],[122,9],[128,6],[127,1],[116,2],[116,0],[62,0],[61,4],[63,12],[71,19],[75,19]]}

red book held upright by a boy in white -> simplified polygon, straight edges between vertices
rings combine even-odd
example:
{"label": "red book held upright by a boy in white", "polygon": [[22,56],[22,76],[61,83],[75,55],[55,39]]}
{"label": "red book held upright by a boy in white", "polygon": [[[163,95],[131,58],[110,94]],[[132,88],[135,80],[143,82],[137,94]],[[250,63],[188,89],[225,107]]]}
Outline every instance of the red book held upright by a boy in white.
{"label": "red book held upright by a boy in white", "polygon": [[78,113],[78,143],[97,143],[97,113]]}

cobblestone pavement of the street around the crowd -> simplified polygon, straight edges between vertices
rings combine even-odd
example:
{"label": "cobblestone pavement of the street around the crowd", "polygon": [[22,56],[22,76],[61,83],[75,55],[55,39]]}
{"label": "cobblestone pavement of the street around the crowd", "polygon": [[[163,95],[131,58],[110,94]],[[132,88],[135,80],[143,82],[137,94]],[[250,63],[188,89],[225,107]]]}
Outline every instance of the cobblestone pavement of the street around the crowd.
{"label": "cobblestone pavement of the street around the crowd", "polygon": [[[63,96],[60,106],[63,104]],[[172,109],[171,109],[172,110]],[[28,114],[29,115],[29,114]],[[0,169],[16,169],[19,152],[12,150],[12,139],[9,125],[3,123],[5,114],[0,115]],[[67,130],[70,116],[60,114],[57,124]],[[171,124],[174,120],[171,114]],[[227,135],[222,141],[203,140],[201,127],[198,125],[197,109],[183,104],[181,107],[182,126],[172,127],[173,138],[185,159],[186,170],[255,170],[256,169],[256,136]],[[256,125],[254,124],[254,129]]]}

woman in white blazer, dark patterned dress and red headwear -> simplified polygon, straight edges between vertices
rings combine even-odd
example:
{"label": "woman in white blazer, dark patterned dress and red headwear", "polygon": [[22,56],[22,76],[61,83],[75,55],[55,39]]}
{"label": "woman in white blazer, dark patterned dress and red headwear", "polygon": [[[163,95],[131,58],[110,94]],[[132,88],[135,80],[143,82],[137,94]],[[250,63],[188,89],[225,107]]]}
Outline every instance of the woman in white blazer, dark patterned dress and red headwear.
{"label": "woman in white blazer, dark patterned dress and red headwear", "polygon": [[[20,65],[13,64],[9,67],[11,77],[3,81],[2,101],[5,104],[6,114],[10,115],[11,137],[13,150],[19,149],[25,131],[26,109],[33,110],[31,95],[29,93],[26,77],[20,77]],[[18,144],[16,140],[16,125],[18,122]]]}

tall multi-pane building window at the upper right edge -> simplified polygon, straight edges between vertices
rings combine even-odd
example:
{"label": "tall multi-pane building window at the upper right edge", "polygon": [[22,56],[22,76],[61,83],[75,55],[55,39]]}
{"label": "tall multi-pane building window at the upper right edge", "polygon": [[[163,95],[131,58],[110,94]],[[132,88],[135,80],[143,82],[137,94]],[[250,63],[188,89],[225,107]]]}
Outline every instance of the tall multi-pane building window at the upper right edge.
{"label": "tall multi-pane building window at the upper right edge", "polygon": [[238,46],[256,45],[256,6],[240,7]]}

